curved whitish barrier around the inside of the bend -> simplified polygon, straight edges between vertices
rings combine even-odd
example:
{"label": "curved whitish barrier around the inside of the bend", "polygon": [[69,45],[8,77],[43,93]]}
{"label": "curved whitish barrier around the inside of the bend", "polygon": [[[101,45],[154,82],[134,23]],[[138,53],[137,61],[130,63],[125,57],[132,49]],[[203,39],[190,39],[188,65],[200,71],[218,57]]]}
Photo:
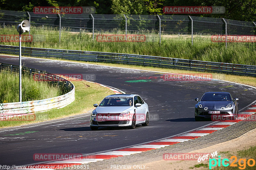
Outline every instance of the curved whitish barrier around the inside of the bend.
{"label": "curved whitish barrier around the inside of the bend", "polygon": [[[15,65],[9,65],[0,63],[0,70],[1,69],[11,69],[11,72],[17,72],[19,70],[19,66]],[[32,74],[41,74],[44,75],[45,72],[31,69],[28,67],[22,67],[23,72],[29,72],[32,76]],[[54,75],[51,77],[52,79],[58,78],[58,76]],[[68,93],[52,97],[49,99],[43,99],[43,100],[36,100],[36,101],[26,101],[26,102],[16,102],[16,103],[0,103],[0,118],[3,120],[5,117],[11,116],[11,115],[29,115],[31,113],[40,112],[40,111],[46,111],[51,110],[55,108],[62,108],[66,105],[72,103],[75,100],[75,86],[71,82],[61,78],[63,81],[52,81],[52,83],[57,83],[58,85],[63,85],[65,88],[65,91],[68,91]]]}

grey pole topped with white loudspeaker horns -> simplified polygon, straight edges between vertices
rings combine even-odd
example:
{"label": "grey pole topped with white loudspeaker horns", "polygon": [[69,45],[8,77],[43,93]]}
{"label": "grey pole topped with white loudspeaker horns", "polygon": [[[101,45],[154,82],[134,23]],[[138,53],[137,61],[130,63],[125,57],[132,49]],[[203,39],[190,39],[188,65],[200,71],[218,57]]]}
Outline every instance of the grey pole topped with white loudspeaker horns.
{"label": "grey pole topped with white loudspeaker horns", "polygon": [[24,32],[29,32],[30,30],[30,22],[28,20],[23,20],[21,22],[21,24],[19,24],[17,26],[17,31],[19,32],[19,42],[20,42],[20,55],[19,55],[19,62],[20,62],[20,67],[19,67],[19,84],[20,84],[20,87],[19,87],[19,101],[21,102],[21,99],[22,99],[22,96],[21,96],[21,34],[24,33]]}

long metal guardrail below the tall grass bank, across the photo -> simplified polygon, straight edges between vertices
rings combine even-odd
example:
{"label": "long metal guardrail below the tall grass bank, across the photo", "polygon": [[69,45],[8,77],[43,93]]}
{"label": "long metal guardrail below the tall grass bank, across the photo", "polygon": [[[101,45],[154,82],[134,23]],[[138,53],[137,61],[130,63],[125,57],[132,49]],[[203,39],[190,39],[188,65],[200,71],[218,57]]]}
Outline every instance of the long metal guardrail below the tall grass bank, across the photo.
{"label": "long metal guardrail below the tall grass bank, across the photo", "polygon": [[[19,54],[19,46],[0,45],[0,53]],[[256,66],[219,63],[198,60],[186,60],[148,55],[105,53],[78,50],[60,50],[49,48],[22,47],[23,56],[61,58],[68,60],[83,60],[95,62],[112,62],[143,66],[177,68],[195,71],[218,72],[238,75],[256,76]]]}

